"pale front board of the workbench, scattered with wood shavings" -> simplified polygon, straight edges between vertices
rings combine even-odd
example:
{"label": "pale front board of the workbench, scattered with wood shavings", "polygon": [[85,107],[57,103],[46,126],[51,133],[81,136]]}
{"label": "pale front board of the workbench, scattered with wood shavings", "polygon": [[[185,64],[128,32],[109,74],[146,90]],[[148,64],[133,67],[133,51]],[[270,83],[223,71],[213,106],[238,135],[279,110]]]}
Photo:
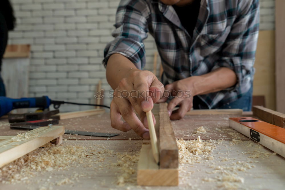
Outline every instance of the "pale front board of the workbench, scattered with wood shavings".
{"label": "pale front board of the workbench, scattered with wood shavings", "polygon": [[[185,142],[198,143],[197,140]],[[137,157],[141,143],[141,140],[66,140],[59,147],[77,147],[84,150],[85,156],[67,164],[67,168],[62,170],[50,169],[53,165],[46,166],[41,171],[31,169],[26,177],[15,176],[15,184],[0,183],[0,189],[284,189],[285,187],[285,159],[256,142],[241,140],[202,140],[202,146],[211,147],[213,151],[197,156],[183,156],[183,159],[180,159],[178,187],[137,186],[138,160],[134,158]],[[178,146],[181,148],[179,143]],[[185,150],[181,149],[180,153],[181,151],[185,153]],[[54,152],[53,156],[57,154],[59,153]],[[191,163],[181,163],[183,160]],[[10,165],[13,166],[13,163]],[[20,167],[25,171],[27,164]],[[3,171],[1,176],[5,178]]]}

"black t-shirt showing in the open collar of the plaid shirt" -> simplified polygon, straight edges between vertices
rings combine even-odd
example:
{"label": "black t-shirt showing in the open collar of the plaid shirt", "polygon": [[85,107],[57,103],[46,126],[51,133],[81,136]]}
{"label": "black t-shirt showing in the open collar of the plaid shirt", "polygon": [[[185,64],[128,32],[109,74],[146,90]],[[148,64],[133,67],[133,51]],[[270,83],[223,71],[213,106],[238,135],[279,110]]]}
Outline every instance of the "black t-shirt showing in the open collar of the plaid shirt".
{"label": "black t-shirt showing in the open collar of the plaid shirt", "polygon": [[193,37],[193,31],[198,19],[200,1],[201,0],[195,0],[193,3],[183,7],[172,5],[180,19],[182,26],[187,30],[191,37]]}

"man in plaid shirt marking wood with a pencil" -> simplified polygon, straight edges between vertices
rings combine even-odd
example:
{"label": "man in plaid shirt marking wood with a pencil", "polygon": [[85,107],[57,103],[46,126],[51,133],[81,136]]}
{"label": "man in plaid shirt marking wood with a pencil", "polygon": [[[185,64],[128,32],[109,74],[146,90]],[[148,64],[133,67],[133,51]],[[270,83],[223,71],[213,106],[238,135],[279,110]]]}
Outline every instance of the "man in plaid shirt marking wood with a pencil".
{"label": "man in plaid shirt marking wood with a pencil", "polygon": [[[133,129],[149,138],[145,112],[153,103],[167,101],[169,92],[171,119],[184,117],[192,107],[251,109],[258,0],[122,0],[115,27],[103,60],[107,81],[115,89],[113,128]],[[147,33],[162,60],[163,84],[141,70]],[[122,98],[122,91],[135,93]],[[178,91],[191,91],[191,96]]]}

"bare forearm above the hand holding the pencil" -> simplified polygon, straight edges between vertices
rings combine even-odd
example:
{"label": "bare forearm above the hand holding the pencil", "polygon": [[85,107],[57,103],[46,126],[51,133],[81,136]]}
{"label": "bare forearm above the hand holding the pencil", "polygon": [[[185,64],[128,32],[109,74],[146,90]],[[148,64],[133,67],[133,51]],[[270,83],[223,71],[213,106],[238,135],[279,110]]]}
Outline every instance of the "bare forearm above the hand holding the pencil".
{"label": "bare forearm above the hand holding the pencil", "polygon": [[112,54],[106,67],[106,78],[109,85],[116,89],[121,79],[127,77],[132,69],[137,68],[128,58],[121,54]]}

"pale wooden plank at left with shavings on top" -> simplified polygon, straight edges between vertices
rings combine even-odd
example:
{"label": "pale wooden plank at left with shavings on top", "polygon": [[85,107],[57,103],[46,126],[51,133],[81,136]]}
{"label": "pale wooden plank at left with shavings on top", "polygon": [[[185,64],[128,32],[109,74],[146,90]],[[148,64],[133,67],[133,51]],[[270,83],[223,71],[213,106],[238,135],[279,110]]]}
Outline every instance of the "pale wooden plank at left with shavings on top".
{"label": "pale wooden plank at left with shavings on top", "polygon": [[40,127],[0,142],[0,167],[62,136],[64,126]]}

